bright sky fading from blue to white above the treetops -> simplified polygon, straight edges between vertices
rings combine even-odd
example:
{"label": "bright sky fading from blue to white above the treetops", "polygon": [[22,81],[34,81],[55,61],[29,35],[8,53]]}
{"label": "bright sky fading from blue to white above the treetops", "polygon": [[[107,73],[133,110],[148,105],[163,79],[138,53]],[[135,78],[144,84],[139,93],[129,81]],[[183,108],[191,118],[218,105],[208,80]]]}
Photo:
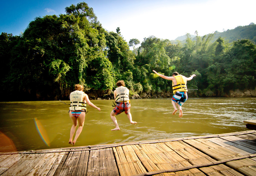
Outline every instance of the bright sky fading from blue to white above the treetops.
{"label": "bright sky fading from blue to white above the treetops", "polygon": [[[0,32],[20,35],[35,17],[65,14],[80,0],[4,1],[0,5]],[[216,30],[256,24],[255,0],[88,0],[102,27],[129,42],[155,36],[174,40],[186,33],[200,36]]]}

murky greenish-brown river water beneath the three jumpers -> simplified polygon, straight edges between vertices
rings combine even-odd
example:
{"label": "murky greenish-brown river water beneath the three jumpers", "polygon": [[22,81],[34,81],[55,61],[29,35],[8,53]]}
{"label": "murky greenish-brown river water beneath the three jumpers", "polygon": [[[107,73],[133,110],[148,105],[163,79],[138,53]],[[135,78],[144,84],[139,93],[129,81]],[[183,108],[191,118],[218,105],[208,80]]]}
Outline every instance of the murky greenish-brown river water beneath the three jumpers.
{"label": "murky greenish-brown river water beneath the three jumpers", "polygon": [[[69,101],[63,101],[69,103]],[[256,119],[256,98],[188,98],[183,117],[172,115],[171,99],[132,99],[131,114],[116,116],[120,131],[111,131],[113,100],[91,100],[75,146],[124,143],[248,131],[244,120]],[[61,101],[0,102],[0,152],[71,147],[72,122]]]}

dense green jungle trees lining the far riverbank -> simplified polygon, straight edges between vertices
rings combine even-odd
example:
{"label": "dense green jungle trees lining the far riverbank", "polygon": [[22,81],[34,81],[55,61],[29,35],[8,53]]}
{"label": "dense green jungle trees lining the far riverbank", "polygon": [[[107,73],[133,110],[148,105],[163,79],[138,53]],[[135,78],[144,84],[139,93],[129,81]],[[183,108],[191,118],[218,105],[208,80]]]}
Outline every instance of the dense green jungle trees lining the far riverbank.
{"label": "dense green jungle trees lining the far riverbank", "polygon": [[149,36],[131,51],[129,46],[140,41],[128,44],[119,28],[106,31],[86,3],[71,5],[66,14],[36,17],[21,36],[0,35],[1,100],[67,99],[76,83],[87,93],[109,98],[120,79],[131,95],[171,92],[171,82],[156,77],[153,69],[166,76],[196,74],[188,88],[198,89],[200,96],[255,89],[253,41],[195,35],[192,40],[188,33],[185,44]]}

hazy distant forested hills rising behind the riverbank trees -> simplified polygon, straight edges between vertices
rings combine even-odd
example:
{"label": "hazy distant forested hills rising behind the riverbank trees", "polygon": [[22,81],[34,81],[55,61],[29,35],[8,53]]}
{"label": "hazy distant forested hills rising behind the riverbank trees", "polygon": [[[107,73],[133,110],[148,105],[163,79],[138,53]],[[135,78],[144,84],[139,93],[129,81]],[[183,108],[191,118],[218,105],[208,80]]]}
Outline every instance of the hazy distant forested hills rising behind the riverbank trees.
{"label": "hazy distant forested hills rising behind the riverbank trees", "polygon": [[[238,39],[249,39],[256,43],[256,24],[251,23],[247,26],[237,26],[235,29],[227,29],[224,32],[216,31],[214,37],[212,38],[212,42],[216,41],[219,37],[230,43],[237,41]],[[191,40],[196,40],[196,36],[191,35]],[[177,44],[179,42],[185,43],[186,35],[177,37],[175,40],[171,40],[171,42],[173,44]]]}

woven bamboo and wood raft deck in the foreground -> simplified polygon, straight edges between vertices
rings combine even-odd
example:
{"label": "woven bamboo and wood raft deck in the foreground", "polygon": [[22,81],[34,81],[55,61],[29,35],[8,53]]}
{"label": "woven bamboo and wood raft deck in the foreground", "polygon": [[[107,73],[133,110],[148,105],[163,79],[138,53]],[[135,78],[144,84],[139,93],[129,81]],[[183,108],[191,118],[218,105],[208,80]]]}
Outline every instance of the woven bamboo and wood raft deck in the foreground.
{"label": "woven bamboo and wood raft deck in the foreground", "polygon": [[256,175],[256,131],[0,153],[0,175]]}

